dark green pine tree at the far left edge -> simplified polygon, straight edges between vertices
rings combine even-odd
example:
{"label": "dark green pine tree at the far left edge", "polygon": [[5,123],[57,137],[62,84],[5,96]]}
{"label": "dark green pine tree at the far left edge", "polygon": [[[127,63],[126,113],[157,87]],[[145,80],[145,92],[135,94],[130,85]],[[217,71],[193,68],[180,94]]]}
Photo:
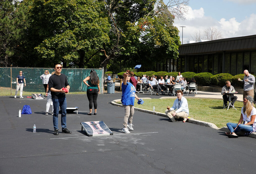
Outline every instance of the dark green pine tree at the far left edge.
{"label": "dark green pine tree at the far left edge", "polygon": [[0,66],[7,67],[19,55],[27,25],[27,7],[16,0],[0,1]]}

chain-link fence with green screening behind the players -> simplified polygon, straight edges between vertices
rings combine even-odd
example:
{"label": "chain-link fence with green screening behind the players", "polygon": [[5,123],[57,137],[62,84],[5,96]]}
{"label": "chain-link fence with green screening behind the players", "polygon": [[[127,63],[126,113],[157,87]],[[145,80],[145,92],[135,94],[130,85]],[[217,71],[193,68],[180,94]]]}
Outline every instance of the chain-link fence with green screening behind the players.
{"label": "chain-link fence with green screening behind the players", "polygon": [[[26,86],[23,88],[23,95],[31,95],[33,93],[45,93],[44,85],[40,76],[48,70],[50,73],[53,68],[10,68],[0,67],[0,95],[14,95],[16,91],[16,78],[19,71],[23,72],[26,80]],[[70,93],[84,93],[87,91],[87,86],[83,83],[83,79],[90,75],[92,69],[71,69],[62,68],[61,73],[65,74],[70,85]],[[103,69],[94,69],[100,79],[100,92],[104,88]],[[19,92],[18,92],[19,95]]]}

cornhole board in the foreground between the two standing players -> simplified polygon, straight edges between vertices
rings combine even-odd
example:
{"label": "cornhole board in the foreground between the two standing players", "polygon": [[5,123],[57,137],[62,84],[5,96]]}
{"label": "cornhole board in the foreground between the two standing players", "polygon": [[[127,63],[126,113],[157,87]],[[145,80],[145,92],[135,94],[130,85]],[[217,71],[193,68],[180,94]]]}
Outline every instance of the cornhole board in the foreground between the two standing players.
{"label": "cornhole board in the foreground between the two standing players", "polygon": [[81,122],[82,132],[85,130],[89,137],[113,135],[113,132],[103,121]]}

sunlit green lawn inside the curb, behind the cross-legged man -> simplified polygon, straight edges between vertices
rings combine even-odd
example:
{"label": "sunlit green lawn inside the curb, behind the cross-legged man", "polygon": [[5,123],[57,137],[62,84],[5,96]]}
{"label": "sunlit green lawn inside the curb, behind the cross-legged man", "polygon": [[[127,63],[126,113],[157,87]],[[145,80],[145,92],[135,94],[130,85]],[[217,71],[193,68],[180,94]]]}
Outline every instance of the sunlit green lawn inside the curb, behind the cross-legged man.
{"label": "sunlit green lawn inside the curb, behind the cross-legged man", "polygon": [[[165,113],[166,106],[172,107],[175,99],[145,99],[143,105],[138,105],[135,100],[134,107],[152,111],[155,106],[156,112]],[[226,126],[228,122],[238,123],[243,107],[243,102],[236,101],[234,105],[237,111],[222,109],[223,100],[220,99],[188,98],[187,101],[189,117],[214,123],[219,128]]]}

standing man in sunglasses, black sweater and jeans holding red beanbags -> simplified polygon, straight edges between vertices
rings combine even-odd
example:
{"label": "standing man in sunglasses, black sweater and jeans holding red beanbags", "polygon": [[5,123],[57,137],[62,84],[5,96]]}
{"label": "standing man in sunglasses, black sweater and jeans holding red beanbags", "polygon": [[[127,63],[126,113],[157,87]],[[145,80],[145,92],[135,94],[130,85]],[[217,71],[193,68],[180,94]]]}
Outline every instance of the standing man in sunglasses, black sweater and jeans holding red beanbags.
{"label": "standing man in sunglasses, black sweater and jeans holding red beanbags", "polygon": [[[53,126],[54,126],[54,135],[59,135],[58,129],[58,114],[59,114],[59,106],[61,108],[61,127],[62,132],[66,134],[71,134],[71,131],[67,129],[66,123],[66,109],[67,109],[67,101],[65,90],[62,90],[63,87],[66,87],[69,91],[69,84],[65,74],[61,73],[62,66],[60,63],[54,64],[55,74],[53,74],[49,78],[48,86],[51,91],[52,103],[54,108],[53,113]],[[68,93],[68,92],[66,92]]]}

